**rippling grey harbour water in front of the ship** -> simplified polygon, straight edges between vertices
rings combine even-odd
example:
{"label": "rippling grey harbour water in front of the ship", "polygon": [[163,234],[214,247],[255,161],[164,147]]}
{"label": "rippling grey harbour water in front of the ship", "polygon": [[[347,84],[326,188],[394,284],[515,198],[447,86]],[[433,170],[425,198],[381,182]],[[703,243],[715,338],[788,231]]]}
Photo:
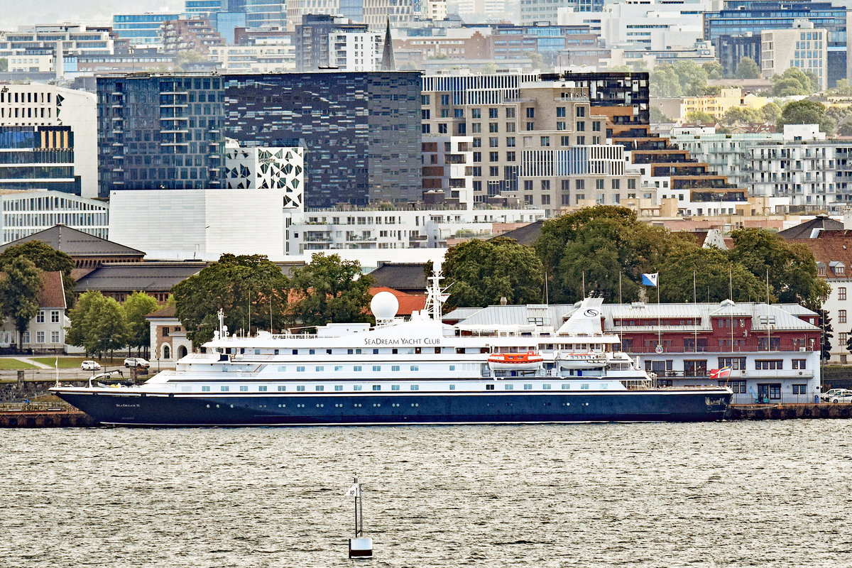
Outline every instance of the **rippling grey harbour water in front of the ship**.
{"label": "rippling grey harbour water in front of the ship", "polygon": [[852,565],[850,426],[11,429],[0,566]]}

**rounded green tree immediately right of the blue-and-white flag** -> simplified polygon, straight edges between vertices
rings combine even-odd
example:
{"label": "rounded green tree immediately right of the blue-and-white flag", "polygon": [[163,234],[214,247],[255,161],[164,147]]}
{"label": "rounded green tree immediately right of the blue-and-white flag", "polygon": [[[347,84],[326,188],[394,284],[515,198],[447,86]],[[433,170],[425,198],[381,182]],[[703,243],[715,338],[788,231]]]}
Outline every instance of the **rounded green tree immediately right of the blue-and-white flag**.
{"label": "rounded green tree immediately right of the blue-and-white flag", "polygon": [[722,301],[733,291],[734,301],[755,300],[766,294],[760,280],[718,249],[684,246],[665,258],[659,269],[660,299],[683,302]]}

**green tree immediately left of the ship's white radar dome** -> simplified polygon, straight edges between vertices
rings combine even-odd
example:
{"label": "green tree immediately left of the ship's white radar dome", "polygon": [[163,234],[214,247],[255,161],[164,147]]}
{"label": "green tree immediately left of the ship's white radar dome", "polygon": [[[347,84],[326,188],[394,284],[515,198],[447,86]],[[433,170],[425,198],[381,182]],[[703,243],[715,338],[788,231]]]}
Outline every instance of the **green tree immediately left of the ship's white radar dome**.
{"label": "green tree immediately left of the ship's white radar dome", "polygon": [[343,261],[339,255],[314,255],[291,277],[291,289],[298,296],[290,307],[291,319],[306,327],[369,321],[372,282],[369,275],[361,274],[358,261]]}

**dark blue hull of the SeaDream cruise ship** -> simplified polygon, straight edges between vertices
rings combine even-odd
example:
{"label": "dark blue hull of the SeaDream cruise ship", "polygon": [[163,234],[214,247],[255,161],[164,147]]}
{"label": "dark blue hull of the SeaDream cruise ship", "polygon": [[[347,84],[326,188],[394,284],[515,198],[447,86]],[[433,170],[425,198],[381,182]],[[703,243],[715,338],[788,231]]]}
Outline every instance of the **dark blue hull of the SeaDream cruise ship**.
{"label": "dark blue hull of the SeaDream cruise ship", "polygon": [[81,392],[54,389],[103,424],[122,426],[296,426],[512,422],[711,422],[725,389],[588,393],[231,395]]}

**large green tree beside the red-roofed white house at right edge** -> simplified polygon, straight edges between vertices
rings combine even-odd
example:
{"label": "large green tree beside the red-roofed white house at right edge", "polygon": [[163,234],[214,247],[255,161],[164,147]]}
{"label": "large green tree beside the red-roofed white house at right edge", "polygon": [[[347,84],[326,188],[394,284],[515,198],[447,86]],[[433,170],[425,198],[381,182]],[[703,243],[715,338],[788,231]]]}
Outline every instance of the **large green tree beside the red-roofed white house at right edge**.
{"label": "large green tree beside the red-roofed white house at right edge", "polygon": [[825,301],[829,286],[817,277],[814,254],[803,244],[790,244],[765,229],[731,233],[730,258],[762,281],[769,274],[770,294],[784,303],[815,309]]}

